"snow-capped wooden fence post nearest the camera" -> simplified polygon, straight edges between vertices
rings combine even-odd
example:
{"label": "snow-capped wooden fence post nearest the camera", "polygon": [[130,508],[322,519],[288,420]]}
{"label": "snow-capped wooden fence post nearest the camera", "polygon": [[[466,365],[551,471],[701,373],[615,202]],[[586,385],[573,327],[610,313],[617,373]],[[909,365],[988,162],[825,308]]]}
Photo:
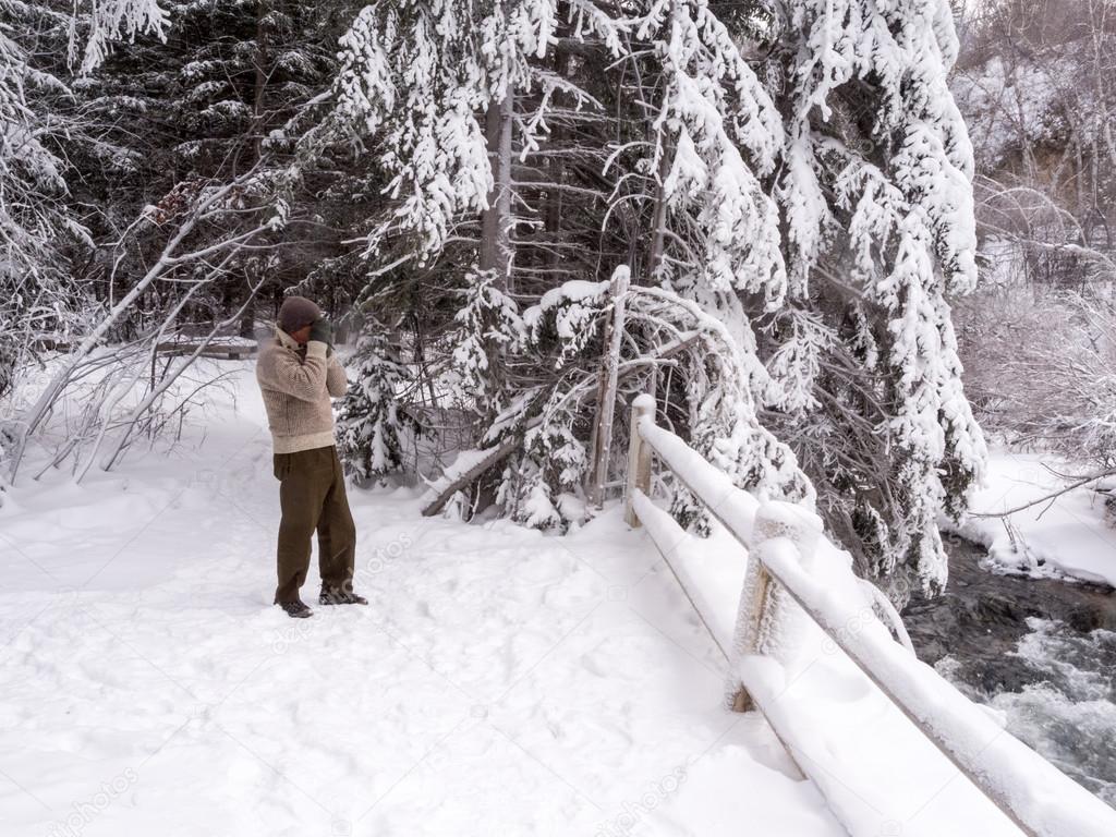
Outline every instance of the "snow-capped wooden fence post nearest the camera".
{"label": "snow-capped wooden fence post nearest the camera", "polygon": [[787,502],[766,502],[756,512],[752,546],[748,550],[744,585],[737,608],[737,627],[732,636],[732,668],[727,695],[733,712],[748,712],[754,702],[740,682],[738,661],[752,654],[771,653],[770,638],[778,635],[780,620],[788,618],[789,597],[772,583],[759,559],[763,541],[788,538],[800,555],[812,555],[821,536],[821,521],[816,514]]}

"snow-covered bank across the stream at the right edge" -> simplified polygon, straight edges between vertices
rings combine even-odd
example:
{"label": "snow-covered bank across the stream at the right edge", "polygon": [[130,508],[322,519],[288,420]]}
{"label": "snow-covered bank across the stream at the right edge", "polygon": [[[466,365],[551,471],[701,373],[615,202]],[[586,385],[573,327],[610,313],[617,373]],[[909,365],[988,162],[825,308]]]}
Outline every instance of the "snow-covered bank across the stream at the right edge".
{"label": "snow-covered bank across the stream at the right edge", "polygon": [[985,484],[973,494],[973,513],[960,526],[945,522],[945,527],[983,543],[993,561],[1013,571],[1071,576],[1116,587],[1116,530],[1106,519],[1104,496],[1091,487],[1017,511],[1007,522],[983,517],[1062,489],[1067,480],[1043,463],[1061,473],[1088,473],[1087,466],[1075,468],[1049,456],[995,450]]}

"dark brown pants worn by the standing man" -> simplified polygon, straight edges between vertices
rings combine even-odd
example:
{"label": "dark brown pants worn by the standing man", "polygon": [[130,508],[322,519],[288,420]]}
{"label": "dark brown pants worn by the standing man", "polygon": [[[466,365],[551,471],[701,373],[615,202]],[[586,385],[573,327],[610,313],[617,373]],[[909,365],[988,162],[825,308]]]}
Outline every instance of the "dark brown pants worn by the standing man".
{"label": "dark brown pants worn by the standing man", "polygon": [[345,478],[337,451],[275,454],[279,484],[278,569],[276,603],[297,602],[310,568],[310,537],[318,531],[318,570],[324,590],[352,590],[356,560],[356,526],[345,496]]}

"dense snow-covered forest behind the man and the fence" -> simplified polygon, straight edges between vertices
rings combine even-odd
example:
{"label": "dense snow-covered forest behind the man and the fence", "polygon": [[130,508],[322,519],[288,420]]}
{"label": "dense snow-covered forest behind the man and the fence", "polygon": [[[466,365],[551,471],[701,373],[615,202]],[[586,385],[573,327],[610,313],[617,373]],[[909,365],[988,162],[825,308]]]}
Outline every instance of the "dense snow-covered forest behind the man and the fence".
{"label": "dense snow-covered forest behind the man and the fence", "polygon": [[349,345],[355,475],[513,442],[463,516],[593,513],[609,368],[896,599],[944,580],[970,403],[1112,464],[1105,2],[77,8],[0,0],[9,482],[173,441],[219,381],[171,403],[167,345],[256,339],[289,292]]}

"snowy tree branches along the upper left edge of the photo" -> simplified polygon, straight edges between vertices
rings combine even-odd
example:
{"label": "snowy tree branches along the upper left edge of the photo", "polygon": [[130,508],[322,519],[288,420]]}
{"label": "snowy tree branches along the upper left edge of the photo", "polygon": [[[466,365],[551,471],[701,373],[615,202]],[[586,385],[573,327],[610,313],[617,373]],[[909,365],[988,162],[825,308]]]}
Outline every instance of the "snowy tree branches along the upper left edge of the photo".
{"label": "snowy tree branches along the upper left edge of the photo", "polygon": [[20,373],[97,314],[77,269],[94,244],[89,212],[71,184],[75,147],[95,144],[102,126],[64,78],[79,54],[92,67],[114,38],[161,21],[151,0],[0,0],[0,480],[13,470],[6,449],[15,462],[22,448],[22,427],[9,424],[21,420]]}

